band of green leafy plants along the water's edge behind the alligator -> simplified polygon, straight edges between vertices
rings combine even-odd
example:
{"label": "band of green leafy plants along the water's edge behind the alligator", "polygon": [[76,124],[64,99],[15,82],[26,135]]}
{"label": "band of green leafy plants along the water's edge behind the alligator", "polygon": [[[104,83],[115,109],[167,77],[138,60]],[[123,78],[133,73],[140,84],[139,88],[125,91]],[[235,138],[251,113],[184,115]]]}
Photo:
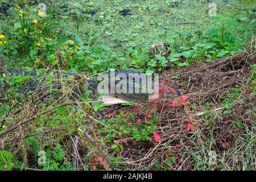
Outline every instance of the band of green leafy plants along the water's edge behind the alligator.
{"label": "band of green leafy plants along the water's edge behind the alligator", "polygon": [[[168,4],[176,2],[166,1]],[[64,19],[72,18],[78,33],[81,21],[90,18],[90,15],[83,12],[90,12],[95,6],[94,3],[75,3],[70,6],[70,3],[65,4],[69,8],[64,15],[60,15],[62,10],[49,7],[47,16],[42,17],[38,16],[37,7],[27,4],[22,10],[11,7],[7,26],[2,28],[6,43],[0,49],[9,59],[12,57],[32,63],[38,68],[51,66],[74,72],[98,73],[110,68],[129,67],[150,74],[161,71],[167,65],[179,68],[188,66],[193,60],[210,61],[232,55],[245,46],[241,40],[247,40],[253,33],[253,11],[249,11],[247,16],[218,15],[213,18],[215,26],[206,32],[180,30],[164,35],[163,40],[169,44],[168,51],[171,52],[168,57],[157,54],[152,59],[148,48],[142,46],[128,48],[127,52],[118,55],[110,51],[106,44],[92,46],[93,37],[97,35],[94,28],[90,28],[88,41],[85,42],[80,35],[71,35],[66,24],[58,23],[60,16]],[[55,7],[60,6],[63,5],[55,4]]]}

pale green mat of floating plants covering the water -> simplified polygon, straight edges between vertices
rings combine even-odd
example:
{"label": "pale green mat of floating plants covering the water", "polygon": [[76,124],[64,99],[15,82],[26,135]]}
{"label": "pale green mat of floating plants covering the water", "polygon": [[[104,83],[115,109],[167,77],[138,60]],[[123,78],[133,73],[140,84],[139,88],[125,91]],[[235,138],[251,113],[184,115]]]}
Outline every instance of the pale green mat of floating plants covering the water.
{"label": "pale green mat of floating plants covering the water", "polygon": [[[117,3],[119,2],[119,3]],[[98,12],[82,22],[81,35],[94,28],[94,43],[107,44],[115,51],[135,46],[150,46],[175,30],[205,30],[213,22],[207,13],[211,1],[184,0],[168,5],[165,1],[155,3],[147,0],[135,1],[94,1]],[[214,1],[217,14],[246,14],[253,1]],[[130,16],[123,17],[120,11],[131,10]],[[100,24],[97,20],[100,19]],[[85,37],[86,39],[86,37]]]}

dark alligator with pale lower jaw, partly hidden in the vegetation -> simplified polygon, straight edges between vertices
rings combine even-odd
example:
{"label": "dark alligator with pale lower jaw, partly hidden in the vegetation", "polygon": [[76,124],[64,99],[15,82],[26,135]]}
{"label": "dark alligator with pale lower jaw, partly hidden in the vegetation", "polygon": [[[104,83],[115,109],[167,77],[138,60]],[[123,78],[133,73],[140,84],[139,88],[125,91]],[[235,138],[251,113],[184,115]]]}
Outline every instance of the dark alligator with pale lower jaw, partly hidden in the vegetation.
{"label": "dark alligator with pale lower jaw, partly hidden in the vegetation", "polygon": [[[152,96],[152,93],[147,93],[147,92],[142,92],[142,87],[139,88],[139,92],[135,93],[135,87],[138,86],[138,85],[135,85],[135,84],[139,84],[141,85],[142,83],[142,77],[134,77],[134,74],[138,74],[140,75],[141,72],[138,72],[138,71],[133,71],[131,69],[127,69],[127,70],[121,70],[121,71],[115,71],[114,72],[114,77],[115,77],[115,80],[114,80],[114,88],[119,84],[120,85],[120,81],[122,81],[123,78],[126,78],[127,79],[127,91],[128,90],[133,90],[133,93],[122,93],[122,92],[114,92],[114,93],[111,93],[110,90],[111,90],[111,86],[110,86],[110,80],[112,80],[112,77],[113,75],[111,75],[111,73],[106,73],[105,75],[105,78],[106,76],[108,76],[109,78],[109,82],[108,82],[108,85],[109,85],[109,88],[108,88],[108,92],[104,92],[104,96],[102,97],[102,102],[104,102],[105,105],[113,105],[113,104],[121,104],[121,103],[125,103],[125,102],[135,102],[135,103],[144,103],[144,102],[148,102],[148,97]],[[118,75],[122,74],[122,79],[117,79],[116,77],[118,77]],[[26,71],[24,69],[16,69],[16,70],[9,70],[7,71],[6,75],[10,76],[10,75],[24,75],[24,76],[31,76],[33,77],[32,80],[30,80],[25,87],[23,88],[20,88],[18,89],[18,92],[19,93],[25,93],[27,91],[34,91],[36,88],[38,88],[38,86],[40,86],[40,82],[37,75],[36,75],[36,72],[35,71]],[[69,77],[69,76],[74,76],[75,77],[75,73],[72,73],[72,72],[65,72],[64,74],[64,77]],[[78,74],[79,75],[79,74]],[[82,74],[80,74],[81,76]],[[84,75],[85,76],[85,75]],[[35,77],[35,79],[34,79]],[[57,77],[59,77],[57,75]],[[138,80],[139,79],[139,80]],[[132,84],[129,84],[129,82],[132,82]],[[137,82],[136,82],[137,81]],[[148,83],[148,78],[146,78],[146,82]],[[98,93],[98,84],[100,83],[99,80],[96,79],[96,77],[89,77],[89,79],[86,79],[85,81],[85,85],[86,85],[86,89],[87,90],[91,90],[91,93],[90,93],[90,97],[91,98],[98,98],[98,96],[100,95],[100,93]],[[125,85],[123,85],[125,86]],[[56,85],[53,85],[53,88],[57,88]],[[121,86],[122,88],[122,86]],[[3,90],[3,88],[1,88],[1,82],[0,82],[0,97],[1,97],[1,90]],[[180,92],[179,90],[175,89],[175,95],[176,96],[180,96]],[[169,93],[167,94],[166,93],[166,97],[167,98],[172,98],[172,94]]]}

